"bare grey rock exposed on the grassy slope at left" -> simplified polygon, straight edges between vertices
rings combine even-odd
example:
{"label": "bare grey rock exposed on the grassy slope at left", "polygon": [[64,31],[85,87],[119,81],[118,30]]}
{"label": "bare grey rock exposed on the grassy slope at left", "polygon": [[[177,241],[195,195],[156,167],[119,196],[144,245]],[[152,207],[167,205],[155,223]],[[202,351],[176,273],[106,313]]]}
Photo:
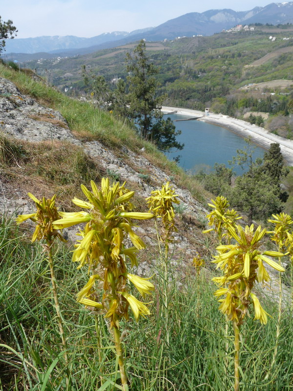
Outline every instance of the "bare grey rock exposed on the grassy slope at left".
{"label": "bare grey rock exposed on the grassy slope at left", "polygon": [[[117,175],[120,181],[135,183],[137,192],[144,198],[169,179],[163,170],[146,159],[143,151],[138,154],[122,146],[117,156],[99,141],[78,140],[60,112],[48,109],[36,100],[21,94],[12,82],[3,78],[0,78],[0,134],[29,142],[58,140],[73,143],[83,148],[88,156],[97,159],[105,171]],[[173,186],[183,204],[182,209],[185,214],[192,215],[195,221],[202,220],[207,212],[206,209],[191,196],[188,190],[181,189],[175,184]],[[30,213],[33,208],[25,191],[21,188],[13,189],[9,183],[0,182],[0,213],[11,214],[15,213],[16,209],[18,213]],[[184,224],[188,226],[188,231],[177,234],[176,252],[180,253],[181,257],[184,254],[185,261],[189,262],[196,252],[196,246],[192,244],[194,241],[192,230],[197,226],[194,221],[189,223],[188,219]],[[152,227],[146,224],[144,228],[136,229],[143,231],[140,235],[148,245],[156,244],[156,233]],[[69,230],[68,235],[74,240],[75,230]]]}

